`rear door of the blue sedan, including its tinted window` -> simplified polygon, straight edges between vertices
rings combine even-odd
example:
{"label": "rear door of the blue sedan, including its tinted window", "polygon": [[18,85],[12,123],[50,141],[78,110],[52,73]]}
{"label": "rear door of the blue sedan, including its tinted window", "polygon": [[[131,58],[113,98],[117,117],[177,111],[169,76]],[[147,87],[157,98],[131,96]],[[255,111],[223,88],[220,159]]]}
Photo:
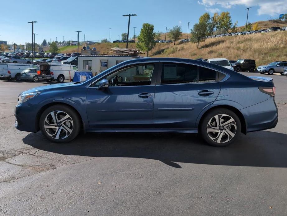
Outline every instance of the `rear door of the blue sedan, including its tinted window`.
{"label": "rear door of the blue sedan, including its tinted window", "polygon": [[218,71],[186,63],[162,62],[154,98],[155,128],[195,128],[196,119],[219,92]]}

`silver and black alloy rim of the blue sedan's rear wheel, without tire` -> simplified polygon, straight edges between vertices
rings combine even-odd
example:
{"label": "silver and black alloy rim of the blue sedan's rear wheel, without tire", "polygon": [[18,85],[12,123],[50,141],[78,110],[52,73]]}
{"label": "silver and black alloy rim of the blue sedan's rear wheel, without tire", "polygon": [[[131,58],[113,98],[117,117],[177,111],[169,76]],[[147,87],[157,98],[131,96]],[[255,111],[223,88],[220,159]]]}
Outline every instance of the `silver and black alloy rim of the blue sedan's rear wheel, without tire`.
{"label": "silver and black alloy rim of the blue sedan's rear wheel, without tire", "polygon": [[209,120],[206,129],[211,140],[216,143],[226,143],[235,136],[237,126],[231,116],[218,114]]}

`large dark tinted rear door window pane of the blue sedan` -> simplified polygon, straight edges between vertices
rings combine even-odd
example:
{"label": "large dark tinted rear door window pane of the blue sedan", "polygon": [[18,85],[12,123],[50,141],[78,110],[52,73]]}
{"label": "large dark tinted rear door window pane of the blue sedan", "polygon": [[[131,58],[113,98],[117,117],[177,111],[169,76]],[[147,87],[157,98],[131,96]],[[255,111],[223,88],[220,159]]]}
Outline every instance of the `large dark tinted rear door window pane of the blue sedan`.
{"label": "large dark tinted rear door window pane of the blue sedan", "polygon": [[180,63],[163,63],[161,84],[197,83],[197,66]]}

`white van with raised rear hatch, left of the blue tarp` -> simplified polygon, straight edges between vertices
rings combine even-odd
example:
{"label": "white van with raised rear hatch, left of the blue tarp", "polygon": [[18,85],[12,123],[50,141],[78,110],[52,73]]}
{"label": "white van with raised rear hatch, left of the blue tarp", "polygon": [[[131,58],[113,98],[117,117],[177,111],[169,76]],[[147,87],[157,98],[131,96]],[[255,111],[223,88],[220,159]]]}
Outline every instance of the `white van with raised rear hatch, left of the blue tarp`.
{"label": "white van with raised rear hatch, left of the blue tarp", "polygon": [[47,82],[57,80],[57,82],[64,82],[64,80],[73,80],[75,72],[78,67],[71,64],[57,64],[47,62],[36,62],[40,68],[38,77],[44,78]]}

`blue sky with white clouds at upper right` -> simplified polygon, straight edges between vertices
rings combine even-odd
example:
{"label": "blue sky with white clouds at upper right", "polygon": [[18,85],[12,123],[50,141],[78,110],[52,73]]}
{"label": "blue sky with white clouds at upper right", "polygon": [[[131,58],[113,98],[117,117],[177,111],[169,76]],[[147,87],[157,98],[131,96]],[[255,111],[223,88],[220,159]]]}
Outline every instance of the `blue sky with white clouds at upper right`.
{"label": "blue sky with white clouds at upper right", "polygon": [[[286,0],[124,0],[124,1],[34,1],[17,0],[1,1],[2,10],[0,23],[0,40],[13,41],[16,44],[31,42],[31,24],[28,21],[38,21],[34,25],[36,43],[44,39],[50,41],[76,40],[76,32],[82,31],[79,40],[111,40],[127,32],[128,17],[124,14],[137,14],[131,17],[130,37],[136,28],[139,34],[143,23],[154,25],[155,31],[165,31],[164,26],[179,25],[187,32],[187,22],[190,28],[198,22],[200,15],[209,12],[229,11],[232,21],[238,21],[238,26],[246,22],[246,7],[250,9],[248,21],[255,22],[277,18],[280,13],[287,13]],[[31,12],[31,7],[33,8]],[[6,11],[6,10],[5,10]],[[10,14],[10,15],[9,15]]]}

